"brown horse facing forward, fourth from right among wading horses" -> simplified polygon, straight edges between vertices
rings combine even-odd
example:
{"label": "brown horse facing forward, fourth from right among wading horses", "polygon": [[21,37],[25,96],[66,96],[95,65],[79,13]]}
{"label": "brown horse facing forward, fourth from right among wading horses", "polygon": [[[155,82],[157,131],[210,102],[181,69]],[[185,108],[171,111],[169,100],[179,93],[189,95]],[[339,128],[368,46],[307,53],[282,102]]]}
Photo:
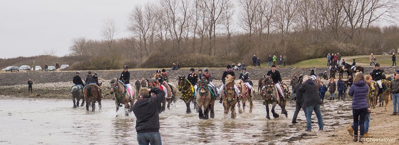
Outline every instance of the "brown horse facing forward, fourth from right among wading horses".
{"label": "brown horse facing forward, fourth from right among wading horses", "polygon": [[[214,118],[215,117],[214,103],[216,97],[214,95],[212,96],[210,91],[211,88],[209,88],[206,79],[201,78],[201,80],[199,81],[198,88],[199,90],[197,93],[197,105],[198,105],[198,113],[200,119],[205,119],[205,120],[209,119],[209,111],[210,111],[210,118]],[[203,114],[202,114],[202,108],[204,110]]]}

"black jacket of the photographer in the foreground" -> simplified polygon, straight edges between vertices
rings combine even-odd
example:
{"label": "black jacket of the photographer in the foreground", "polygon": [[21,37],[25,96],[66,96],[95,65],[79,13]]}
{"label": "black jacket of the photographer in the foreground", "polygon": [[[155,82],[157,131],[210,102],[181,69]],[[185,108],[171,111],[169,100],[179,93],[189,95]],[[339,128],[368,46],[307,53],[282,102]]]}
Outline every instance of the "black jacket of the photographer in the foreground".
{"label": "black jacket of the photographer in the foreground", "polygon": [[165,92],[158,87],[153,87],[151,92],[155,93],[156,96],[142,96],[133,105],[133,113],[136,116],[136,132],[138,134],[159,132],[158,107],[161,106],[162,100],[165,98]]}

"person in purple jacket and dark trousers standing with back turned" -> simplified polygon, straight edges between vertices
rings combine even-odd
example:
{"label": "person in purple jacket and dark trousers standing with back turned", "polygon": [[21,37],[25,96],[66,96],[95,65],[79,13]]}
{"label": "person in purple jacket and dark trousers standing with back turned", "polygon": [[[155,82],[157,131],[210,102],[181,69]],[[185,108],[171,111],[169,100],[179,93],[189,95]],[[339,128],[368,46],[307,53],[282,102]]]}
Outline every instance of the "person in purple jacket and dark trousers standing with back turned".
{"label": "person in purple jacket and dark trousers standing with back turned", "polygon": [[369,85],[366,84],[362,72],[356,72],[353,85],[349,89],[348,94],[352,96],[352,112],[353,112],[353,127],[354,127],[354,142],[358,141],[358,126],[360,126],[360,140],[363,142],[365,133],[365,120],[367,112],[371,109],[367,103],[367,95],[369,92]]}

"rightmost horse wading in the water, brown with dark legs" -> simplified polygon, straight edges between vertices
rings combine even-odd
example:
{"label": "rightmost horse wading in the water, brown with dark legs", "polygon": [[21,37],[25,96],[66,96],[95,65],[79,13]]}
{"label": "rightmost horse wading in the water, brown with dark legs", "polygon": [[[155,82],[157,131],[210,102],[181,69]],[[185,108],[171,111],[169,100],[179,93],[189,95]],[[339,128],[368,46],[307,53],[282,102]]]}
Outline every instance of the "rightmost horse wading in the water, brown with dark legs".
{"label": "rightmost horse wading in the water, brown with dark legs", "polygon": [[[273,114],[274,118],[278,118],[279,117],[279,115],[277,113],[275,113],[275,111],[274,111],[274,108],[276,107],[277,104],[281,107],[282,114],[285,114],[285,116],[287,117],[288,113],[285,110],[285,105],[286,105],[288,99],[286,99],[286,101],[280,100],[279,102],[277,102],[278,90],[275,87],[275,85],[273,84],[273,81],[271,80],[270,76],[267,76],[263,80],[263,82],[264,82],[264,86],[263,86],[263,88],[261,90],[261,96],[262,96],[262,98],[264,100],[263,104],[266,106],[266,118],[270,119],[270,116],[269,116],[269,104],[272,104],[271,113]],[[283,90],[286,91],[286,93],[284,94],[284,97],[288,98],[290,93],[288,91],[288,87],[287,86],[286,86],[286,89],[287,90],[285,90],[283,88]]]}

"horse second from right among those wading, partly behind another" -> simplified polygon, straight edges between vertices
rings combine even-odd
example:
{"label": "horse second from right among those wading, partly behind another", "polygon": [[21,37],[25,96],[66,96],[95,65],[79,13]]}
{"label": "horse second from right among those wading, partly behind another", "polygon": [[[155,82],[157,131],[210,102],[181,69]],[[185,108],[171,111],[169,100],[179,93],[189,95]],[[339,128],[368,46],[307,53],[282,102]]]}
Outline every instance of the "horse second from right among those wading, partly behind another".
{"label": "horse second from right among those wading, partly behind another", "polygon": [[236,83],[238,89],[240,90],[240,100],[242,103],[242,110],[241,110],[241,106],[240,106],[240,101],[237,102],[238,104],[238,113],[241,114],[242,112],[245,112],[245,106],[246,106],[246,101],[249,102],[249,113],[252,113],[252,108],[253,108],[253,93],[251,95],[249,95],[248,92],[248,86],[245,85],[245,83],[242,80],[238,80],[238,82]]}

